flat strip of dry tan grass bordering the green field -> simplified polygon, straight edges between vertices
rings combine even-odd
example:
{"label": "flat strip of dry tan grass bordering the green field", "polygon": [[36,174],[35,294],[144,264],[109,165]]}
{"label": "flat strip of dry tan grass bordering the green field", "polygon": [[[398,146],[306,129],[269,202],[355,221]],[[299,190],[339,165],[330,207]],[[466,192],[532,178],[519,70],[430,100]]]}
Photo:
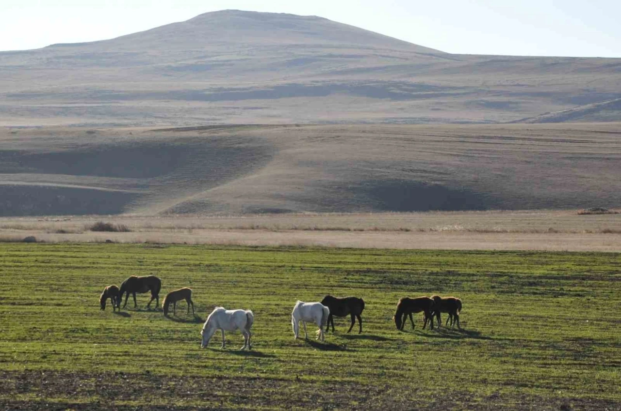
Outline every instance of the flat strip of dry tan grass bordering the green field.
{"label": "flat strip of dry tan grass bordering the green field", "polygon": [[36,236],[45,242],[618,252],[619,217],[541,210],[109,218],[109,224],[129,232],[84,231],[98,217],[1,218],[0,241]]}

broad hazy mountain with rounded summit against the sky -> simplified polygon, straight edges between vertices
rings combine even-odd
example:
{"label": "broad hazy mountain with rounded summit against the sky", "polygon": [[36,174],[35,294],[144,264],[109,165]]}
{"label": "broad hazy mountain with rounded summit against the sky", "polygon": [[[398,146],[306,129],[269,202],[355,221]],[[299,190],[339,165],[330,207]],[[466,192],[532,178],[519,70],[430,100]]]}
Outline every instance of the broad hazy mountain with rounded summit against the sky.
{"label": "broad hazy mountain with rounded summit against the sky", "polygon": [[[291,14],[0,53],[9,126],[497,123],[620,98],[621,59],[452,55]],[[621,120],[615,107],[589,118]]]}

